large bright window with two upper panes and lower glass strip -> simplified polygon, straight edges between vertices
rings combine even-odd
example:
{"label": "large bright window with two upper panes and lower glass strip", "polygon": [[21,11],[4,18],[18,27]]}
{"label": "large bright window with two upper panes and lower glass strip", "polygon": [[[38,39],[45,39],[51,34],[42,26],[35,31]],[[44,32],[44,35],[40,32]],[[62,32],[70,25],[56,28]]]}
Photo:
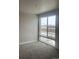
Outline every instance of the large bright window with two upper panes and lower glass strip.
{"label": "large bright window with two upper panes and lower glass strip", "polygon": [[40,17],[39,29],[40,41],[55,46],[56,15]]}

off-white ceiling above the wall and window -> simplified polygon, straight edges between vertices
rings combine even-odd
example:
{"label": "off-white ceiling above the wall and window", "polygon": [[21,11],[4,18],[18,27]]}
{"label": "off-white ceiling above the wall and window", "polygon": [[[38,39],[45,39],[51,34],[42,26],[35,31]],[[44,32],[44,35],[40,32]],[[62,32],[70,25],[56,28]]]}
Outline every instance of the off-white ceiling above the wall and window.
{"label": "off-white ceiling above the wall and window", "polygon": [[40,14],[58,8],[58,0],[19,0],[20,12]]}

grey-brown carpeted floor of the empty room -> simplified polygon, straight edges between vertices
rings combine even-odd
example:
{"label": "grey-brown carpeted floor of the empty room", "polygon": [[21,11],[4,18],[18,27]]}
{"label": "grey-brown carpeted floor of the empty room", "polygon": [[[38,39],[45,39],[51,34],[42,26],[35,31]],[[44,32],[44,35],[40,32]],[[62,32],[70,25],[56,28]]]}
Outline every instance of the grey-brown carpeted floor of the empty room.
{"label": "grey-brown carpeted floor of the empty room", "polygon": [[19,46],[19,59],[58,59],[58,53],[50,45],[34,42]]}

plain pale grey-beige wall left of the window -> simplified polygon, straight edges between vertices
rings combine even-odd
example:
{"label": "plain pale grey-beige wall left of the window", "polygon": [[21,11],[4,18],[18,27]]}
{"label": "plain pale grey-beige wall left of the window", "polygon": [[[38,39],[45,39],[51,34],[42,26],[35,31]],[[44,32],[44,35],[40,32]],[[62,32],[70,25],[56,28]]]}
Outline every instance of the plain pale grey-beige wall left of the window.
{"label": "plain pale grey-beige wall left of the window", "polygon": [[38,19],[36,15],[20,12],[19,43],[32,42],[38,39]]}

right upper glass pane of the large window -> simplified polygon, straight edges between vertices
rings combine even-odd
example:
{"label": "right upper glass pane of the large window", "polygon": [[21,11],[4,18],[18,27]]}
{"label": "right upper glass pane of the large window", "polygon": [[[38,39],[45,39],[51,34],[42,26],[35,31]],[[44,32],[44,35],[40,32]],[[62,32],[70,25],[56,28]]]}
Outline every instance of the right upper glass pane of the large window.
{"label": "right upper glass pane of the large window", "polygon": [[55,39],[56,15],[48,17],[48,37]]}

